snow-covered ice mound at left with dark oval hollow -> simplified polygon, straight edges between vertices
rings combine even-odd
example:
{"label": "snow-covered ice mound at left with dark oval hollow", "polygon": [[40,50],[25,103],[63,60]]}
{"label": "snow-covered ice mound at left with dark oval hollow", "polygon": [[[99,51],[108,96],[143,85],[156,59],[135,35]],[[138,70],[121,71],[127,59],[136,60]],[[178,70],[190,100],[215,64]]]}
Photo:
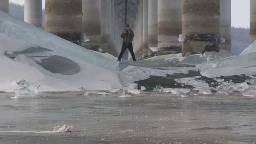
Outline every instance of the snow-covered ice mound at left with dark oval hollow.
{"label": "snow-covered ice mound at left with dark oval hollow", "polygon": [[[113,61],[113,56],[92,52],[3,12],[0,12],[0,43],[2,91],[13,91],[12,83],[22,79],[40,85],[39,92],[123,87],[117,75],[119,63]],[[52,53],[22,54],[33,47]],[[17,52],[21,54],[15,59],[6,56]]]}

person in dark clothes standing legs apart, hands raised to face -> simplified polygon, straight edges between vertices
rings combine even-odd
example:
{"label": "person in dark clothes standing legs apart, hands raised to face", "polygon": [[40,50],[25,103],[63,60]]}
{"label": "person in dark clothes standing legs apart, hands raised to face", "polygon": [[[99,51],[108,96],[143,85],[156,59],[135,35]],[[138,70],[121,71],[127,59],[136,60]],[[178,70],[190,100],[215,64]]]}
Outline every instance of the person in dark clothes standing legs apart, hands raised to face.
{"label": "person in dark clothes standing legs apart, hands raised to face", "polygon": [[125,30],[122,32],[121,37],[123,38],[123,45],[122,45],[122,50],[118,57],[118,61],[121,61],[121,58],[122,58],[123,54],[125,53],[125,50],[128,49],[132,56],[133,61],[135,62],[136,58],[135,58],[135,55],[133,52],[133,46],[132,46],[134,33],[130,29],[130,26],[128,24],[125,26]]}

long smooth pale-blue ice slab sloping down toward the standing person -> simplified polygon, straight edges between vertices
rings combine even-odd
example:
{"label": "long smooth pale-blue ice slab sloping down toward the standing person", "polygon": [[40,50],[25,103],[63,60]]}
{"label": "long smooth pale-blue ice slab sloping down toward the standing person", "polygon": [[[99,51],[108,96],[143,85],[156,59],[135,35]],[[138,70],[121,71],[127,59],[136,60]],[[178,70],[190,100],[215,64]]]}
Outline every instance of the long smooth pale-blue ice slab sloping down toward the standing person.
{"label": "long smooth pale-blue ice slab sloping down toward the standing person", "polygon": [[13,18],[0,11],[0,33],[54,51],[55,55],[95,64],[109,70],[118,70],[118,62],[93,53],[38,27]]}

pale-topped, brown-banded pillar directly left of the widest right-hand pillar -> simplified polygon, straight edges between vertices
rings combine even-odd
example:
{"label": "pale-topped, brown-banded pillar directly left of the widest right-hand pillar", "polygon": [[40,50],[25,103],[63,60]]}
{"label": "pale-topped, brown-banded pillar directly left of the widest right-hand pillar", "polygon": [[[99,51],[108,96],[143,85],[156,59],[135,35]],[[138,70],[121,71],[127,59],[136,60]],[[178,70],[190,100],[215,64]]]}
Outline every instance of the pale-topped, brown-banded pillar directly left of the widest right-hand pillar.
{"label": "pale-topped, brown-banded pillar directly left of the widest right-hand pillar", "polygon": [[158,47],[159,55],[181,49],[178,38],[182,33],[182,1],[158,0]]}

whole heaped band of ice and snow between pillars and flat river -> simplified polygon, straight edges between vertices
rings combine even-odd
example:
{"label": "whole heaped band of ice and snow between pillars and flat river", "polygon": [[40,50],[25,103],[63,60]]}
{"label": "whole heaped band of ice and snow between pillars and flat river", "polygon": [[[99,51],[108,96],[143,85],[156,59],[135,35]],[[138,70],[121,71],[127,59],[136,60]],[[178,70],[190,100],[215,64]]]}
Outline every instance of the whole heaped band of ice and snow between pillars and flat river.
{"label": "whole heaped band of ice and snow between pillars and flat river", "polygon": [[[119,93],[121,98],[132,97],[146,90],[146,87],[137,88],[135,81],[151,76],[188,74],[190,71],[215,78],[217,82],[211,85],[199,80],[199,77],[183,77],[175,81],[192,86],[192,89],[159,86],[155,90],[182,97],[211,93],[225,95],[234,91],[245,96],[255,94],[252,85],[256,85],[253,76],[256,74],[256,42],[239,55],[220,50],[219,53],[205,52],[186,57],[182,57],[182,54],[167,54],[136,63],[119,63],[110,54],[84,49],[0,12],[0,43],[0,90],[15,91],[19,98],[25,95],[34,97],[41,91],[68,90],[83,90],[84,95]],[[242,83],[216,79],[219,76],[241,74],[251,78]],[[17,81],[23,79],[28,85],[17,88]]]}

